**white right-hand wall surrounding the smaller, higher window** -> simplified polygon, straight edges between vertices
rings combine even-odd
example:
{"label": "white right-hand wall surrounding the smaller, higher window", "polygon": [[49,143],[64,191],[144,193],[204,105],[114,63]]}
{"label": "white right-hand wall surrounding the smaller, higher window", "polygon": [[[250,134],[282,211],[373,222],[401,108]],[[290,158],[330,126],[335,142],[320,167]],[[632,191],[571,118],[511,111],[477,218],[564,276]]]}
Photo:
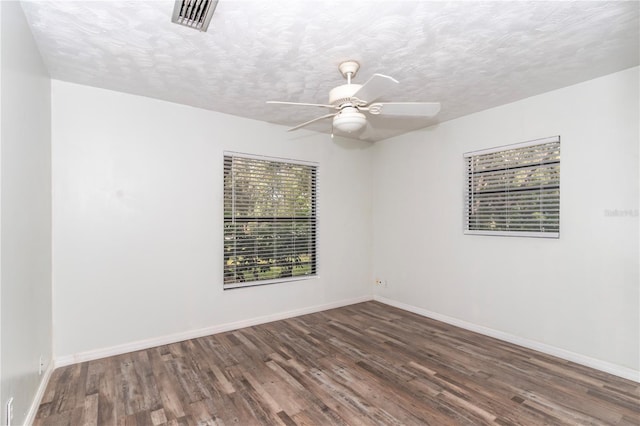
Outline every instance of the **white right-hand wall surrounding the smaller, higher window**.
{"label": "white right-hand wall surrounding the smaller, higher window", "polygon": [[[378,295],[640,370],[638,117],[632,68],[377,143]],[[463,153],[553,135],[560,239],[463,235]]]}

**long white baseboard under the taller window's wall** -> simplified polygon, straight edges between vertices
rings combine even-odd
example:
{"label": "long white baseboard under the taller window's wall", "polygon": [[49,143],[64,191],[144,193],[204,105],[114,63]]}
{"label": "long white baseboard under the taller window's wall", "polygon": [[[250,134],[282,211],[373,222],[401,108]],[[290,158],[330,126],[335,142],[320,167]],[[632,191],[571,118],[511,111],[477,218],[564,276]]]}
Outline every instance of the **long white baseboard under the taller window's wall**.
{"label": "long white baseboard under the taller window's wall", "polygon": [[171,343],[182,342],[184,340],[195,339],[198,337],[209,336],[216,333],[224,333],[226,331],[238,330],[240,328],[251,327],[254,325],[265,324],[268,322],[279,321],[287,318],[293,318],[300,315],[313,314],[316,312],[326,311],[328,309],[341,308],[343,306],[353,305],[373,300],[371,295],[356,297],[353,299],[345,299],[337,302],[326,303],[323,305],[309,306],[292,311],[279,312],[271,315],[265,315],[247,320],[236,321],[231,323],[214,325],[211,327],[201,328],[198,330],[190,330],[183,333],[176,333],[167,336],[156,337],[152,339],[139,340],[136,342],[126,343],[123,345],[112,346],[108,348],[96,349],[92,351],[81,352],[73,355],[65,355],[56,357],[55,368],[73,365],[85,361],[93,361],[95,359],[106,358],[114,355],[122,355],[128,352],[140,351],[153,348],[156,346],[168,345]]}

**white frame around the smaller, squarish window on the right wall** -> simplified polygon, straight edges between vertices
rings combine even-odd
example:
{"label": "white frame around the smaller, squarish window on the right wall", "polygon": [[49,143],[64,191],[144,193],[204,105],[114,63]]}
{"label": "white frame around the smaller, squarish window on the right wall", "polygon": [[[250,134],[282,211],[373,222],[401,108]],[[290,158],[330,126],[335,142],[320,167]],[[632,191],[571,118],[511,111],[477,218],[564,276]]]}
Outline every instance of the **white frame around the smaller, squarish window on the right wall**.
{"label": "white frame around the smaller, squarish window on the right wall", "polygon": [[[546,144],[551,144],[551,143],[557,143],[557,150],[558,150],[558,161],[557,161],[557,173],[558,173],[558,185],[557,185],[557,231],[522,231],[522,230],[507,230],[507,229],[500,229],[500,230],[485,230],[485,229],[470,229],[470,223],[471,221],[471,203],[473,202],[473,195],[476,194],[476,192],[473,192],[472,190],[472,178],[475,176],[473,174],[473,172],[471,171],[471,167],[470,167],[470,159],[471,158],[476,158],[479,156],[483,156],[483,155],[488,155],[488,154],[495,154],[495,153],[499,153],[499,152],[507,152],[507,151],[514,151],[514,150],[518,150],[518,149],[525,149],[525,148],[530,148],[530,147],[534,147],[534,146],[539,146],[539,145],[546,145]],[[465,191],[464,191],[464,198],[463,198],[463,232],[465,235],[488,235],[488,236],[503,236],[503,237],[534,237],[534,238],[551,238],[551,239],[558,239],[560,238],[560,136],[551,136],[551,137],[547,137],[547,138],[542,138],[542,139],[535,139],[535,140],[531,140],[531,141],[526,141],[526,142],[520,142],[520,143],[515,143],[515,144],[509,144],[509,145],[503,145],[503,146],[498,146],[498,147],[493,147],[493,148],[489,148],[489,149],[483,149],[483,150],[477,150],[477,151],[470,151],[470,152],[466,152],[463,154],[463,158],[464,158],[464,162],[465,162],[465,172],[464,172],[464,185],[465,185]],[[516,165],[515,168],[518,168],[519,166]],[[526,167],[526,166],[521,166],[521,167]],[[509,169],[512,169],[512,167],[509,167]],[[508,170],[507,168],[505,168],[504,170]],[[534,193],[535,191],[532,190],[532,193]],[[473,195],[470,195],[470,193],[472,193]],[[542,193],[542,189],[539,190],[538,194],[539,196],[541,196],[540,194]],[[508,220],[508,219],[507,219]],[[508,227],[508,225],[507,225]]]}

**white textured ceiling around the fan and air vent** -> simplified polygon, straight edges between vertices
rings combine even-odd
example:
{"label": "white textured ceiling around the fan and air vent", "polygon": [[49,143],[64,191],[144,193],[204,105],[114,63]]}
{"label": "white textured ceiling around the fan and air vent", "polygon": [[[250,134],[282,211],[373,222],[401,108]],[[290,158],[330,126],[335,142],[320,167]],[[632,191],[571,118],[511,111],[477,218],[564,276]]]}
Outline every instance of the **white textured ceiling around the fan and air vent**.
{"label": "white textured ceiling around the fan and air vent", "polygon": [[[440,101],[437,119],[382,119],[379,140],[639,63],[627,2],[220,0],[209,31],[173,1],[23,1],[54,79],[295,125],[326,113],[337,66],[400,81],[383,100]],[[311,130],[331,131],[330,121]]]}

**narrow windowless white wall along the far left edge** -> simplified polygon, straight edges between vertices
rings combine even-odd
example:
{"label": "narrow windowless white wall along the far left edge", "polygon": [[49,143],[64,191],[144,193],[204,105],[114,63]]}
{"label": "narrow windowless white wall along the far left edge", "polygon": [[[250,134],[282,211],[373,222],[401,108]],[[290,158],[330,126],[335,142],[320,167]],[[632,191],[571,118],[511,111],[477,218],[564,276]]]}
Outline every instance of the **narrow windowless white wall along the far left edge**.
{"label": "narrow windowless white wall along the far left edge", "polygon": [[17,2],[0,2],[0,401],[22,424],[51,359],[50,80]]}

